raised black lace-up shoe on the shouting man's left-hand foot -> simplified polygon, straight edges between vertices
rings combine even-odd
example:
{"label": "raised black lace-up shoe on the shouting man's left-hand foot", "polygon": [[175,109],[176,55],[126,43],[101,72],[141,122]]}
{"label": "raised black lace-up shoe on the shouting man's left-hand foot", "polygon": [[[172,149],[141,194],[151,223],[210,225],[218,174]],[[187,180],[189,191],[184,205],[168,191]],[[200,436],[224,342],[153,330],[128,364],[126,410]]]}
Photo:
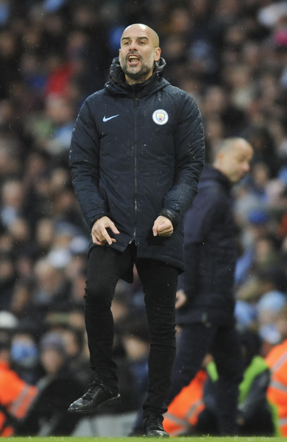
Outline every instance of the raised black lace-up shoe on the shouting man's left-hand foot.
{"label": "raised black lace-up shoe on the shouting man's left-hand foot", "polygon": [[68,412],[82,414],[94,413],[105,405],[112,407],[113,405],[119,404],[121,401],[120,397],[117,389],[111,391],[106,385],[93,382],[89,385],[87,392],[69,406]]}

